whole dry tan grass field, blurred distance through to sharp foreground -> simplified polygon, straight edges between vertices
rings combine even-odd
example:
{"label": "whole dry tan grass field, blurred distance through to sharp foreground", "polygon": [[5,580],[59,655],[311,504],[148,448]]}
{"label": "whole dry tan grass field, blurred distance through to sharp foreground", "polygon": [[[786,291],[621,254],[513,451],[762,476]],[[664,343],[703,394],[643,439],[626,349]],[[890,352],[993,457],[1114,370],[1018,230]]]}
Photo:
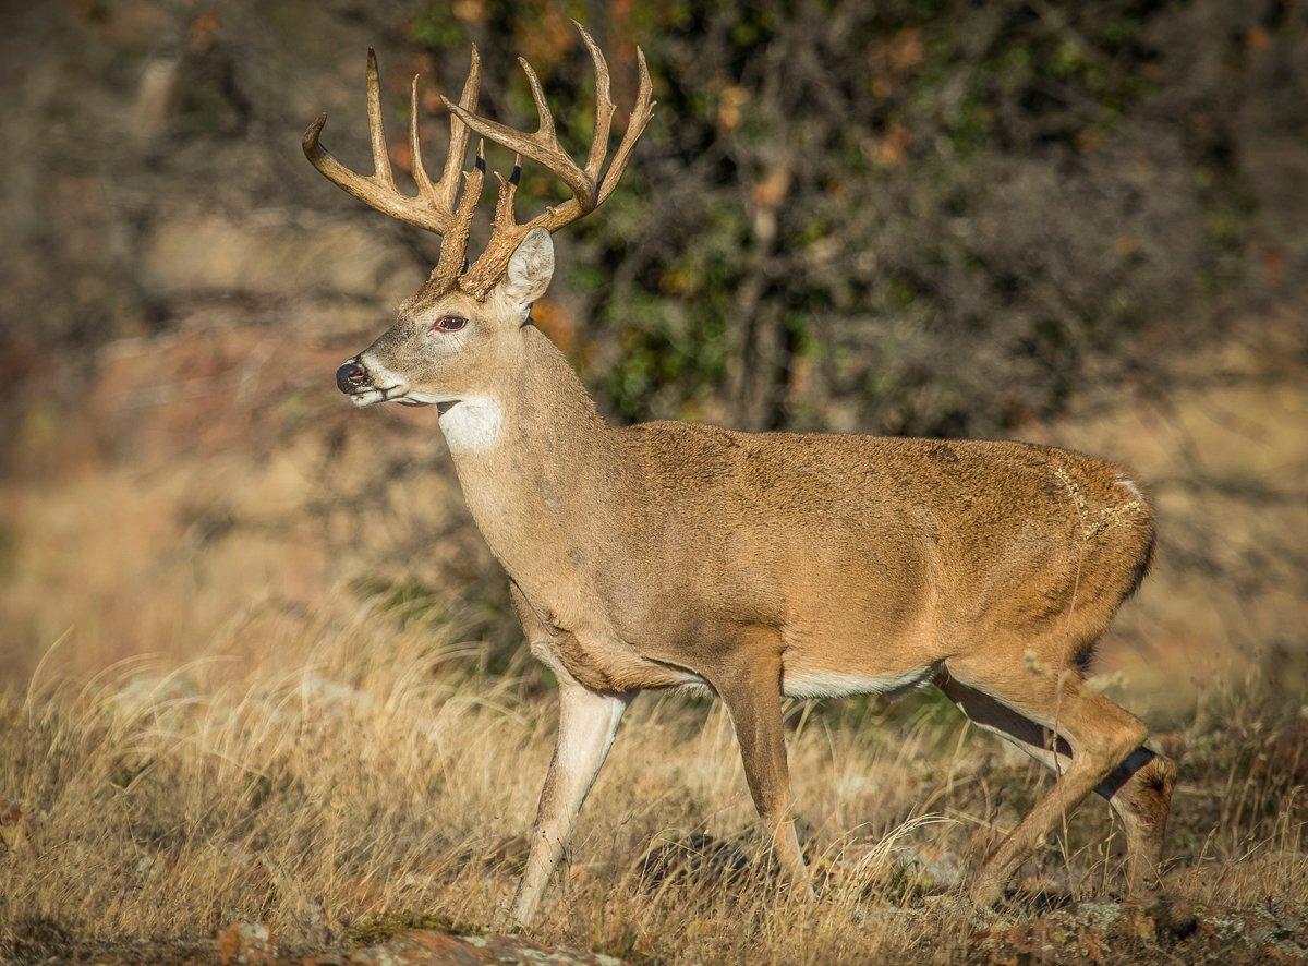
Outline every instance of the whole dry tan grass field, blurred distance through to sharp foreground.
{"label": "whole dry tan grass field, blurred distance through to sharp foreground", "polygon": [[[283,359],[317,385],[301,361]],[[337,412],[330,386],[238,408],[215,365],[184,339],[124,351],[78,418],[37,411],[16,437],[0,959],[209,961],[235,921],[285,957],[471,935],[525,859],[552,683],[432,427]],[[115,395],[178,370],[212,394]],[[530,940],[649,962],[1308,957],[1301,386],[1205,390],[1167,432],[1118,408],[1033,433],[1125,458],[1160,503],[1156,572],[1096,681],[1180,763],[1167,902],[1120,902],[1122,836],[1096,798],[994,914],[963,906],[969,861],[1049,775],[930,692],[789,707],[818,873],[795,899],[759,855],[722,709],[651,694]]]}

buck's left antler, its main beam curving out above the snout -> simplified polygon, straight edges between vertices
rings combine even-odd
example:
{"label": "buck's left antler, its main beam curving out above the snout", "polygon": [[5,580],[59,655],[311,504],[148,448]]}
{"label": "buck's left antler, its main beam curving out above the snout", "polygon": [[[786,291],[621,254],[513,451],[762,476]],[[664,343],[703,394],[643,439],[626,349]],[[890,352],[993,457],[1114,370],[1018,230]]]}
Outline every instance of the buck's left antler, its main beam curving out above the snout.
{"label": "buck's left antler, its main beam curving out above the snout", "polygon": [[[476,212],[477,202],[481,196],[481,182],[484,178],[485,162],[479,161],[472,171],[464,171],[463,157],[468,147],[468,127],[454,114],[450,114],[450,151],[445,158],[445,168],[439,179],[433,183],[422,166],[422,148],[419,136],[419,97],[417,76],[409,92],[409,147],[413,154],[413,181],[417,182],[417,195],[404,195],[395,187],[395,175],[391,173],[391,162],[386,151],[386,131],[382,126],[382,96],[381,84],[377,77],[377,54],[368,48],[368,128],[373,145],[373,174],[362,175],[352,171],[319,144],[327,115],[320,114],[318,119],[305,131],[303,149],[305,157],[328,181],[337,187],[354,195],[364,204],[377,211],[390,215],[394,219],[405,221],[428,232],[442,236],[441,259],[433,277],[445,277],[453,281],[464,266],[464,253],[468,243],[468,232],[472,228],[472,216]],[[472,64],[468,68],[468,79],[463,84],[463,93],[459,103],[460,111],[472,111],[477,106],[477,92],[481,84],[481,62],[477,48],[472,48]],[[446,105],[450,102],[445,101]],[[477,151],[479,158],[481,149]],[[463,182],[463,196],[459,199],[459,182]],[[458,204],[455,202],[458,200]]]}

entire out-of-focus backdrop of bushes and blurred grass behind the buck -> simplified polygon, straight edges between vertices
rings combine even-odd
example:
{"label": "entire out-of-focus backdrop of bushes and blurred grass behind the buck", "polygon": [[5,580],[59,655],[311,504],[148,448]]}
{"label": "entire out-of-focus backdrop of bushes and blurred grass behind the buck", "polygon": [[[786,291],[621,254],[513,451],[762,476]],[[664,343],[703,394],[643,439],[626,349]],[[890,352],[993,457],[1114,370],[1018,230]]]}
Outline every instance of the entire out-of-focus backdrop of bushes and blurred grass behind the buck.
{"label": "entire out-of-focus backdrop of bushes and blurred grass behind the buck", "polygon": [[[504,580],[433,410],[357,411],[339,363],[437,242],[303,160],[432,158],[468,46],[483,111],[566,143],[610,58],[659,102],[564,233],[536,318],[619,421],[1018,437],[1131,466],[1155,573],[1103,666],[1181,711],[1308,656],[1303,3],[60,0],[0,13],[0,679],[58,647],[258,657],[252,615],[373,601],[517,668]],[[498,149],[497,149],[498,151]],[[504,168],[506,157],[492,157]],[[525,173],[519,211],[560,198]]]}

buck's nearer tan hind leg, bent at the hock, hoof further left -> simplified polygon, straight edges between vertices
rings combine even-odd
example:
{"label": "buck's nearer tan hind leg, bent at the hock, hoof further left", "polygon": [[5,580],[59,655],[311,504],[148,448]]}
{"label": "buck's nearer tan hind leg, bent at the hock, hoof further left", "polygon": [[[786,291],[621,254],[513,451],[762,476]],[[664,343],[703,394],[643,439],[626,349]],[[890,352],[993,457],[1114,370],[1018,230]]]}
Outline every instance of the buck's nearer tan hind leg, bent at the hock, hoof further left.
{"label": "buck's nearer tan hind leg, bent at the hock, hoof further left", "polygon": [[[1008,661],[964,657],[950,661],[947,670],[956,683],[980,691],[997,704],[1016,712],[1016,717],[1037,725],[1037,734],[1042,736],[1044,728],[1049,728],[1059,738],[1053,754],[1046,750],[1040,737],[1036,741],[1023,742],[1033,749],[1039,747],[1041,754],[1037,757],[1058,766],[1061,771],[1053,787],[999,843],[977,872],[971,898],[978,906],[993,906],[1003,894],[1008,878],[1054,830],[1059,818],[1074,810],[1087,795],[1101,785],[1108,791],[1110,779],[1124,767],[1130,768],[1127,759],[1141,747],[1141,742],[1148,736],[1148,729],[1143,721],[1103,695],[1084,691],[1075,668],[1067,668],[1058,674],[1048,669],[1014,666]],[[984,715],[980,707],[981,703],[973,700],[973,708],[978,708],[977,713]],[[989,711],[993,712],[993,708]],[[1014,719],[1005,719],[1003,723],[1031,736],[1031,732],[1018,725]],[[1006,730],[998,724],[994,726]],[[1062,770],[1063,766],[1066,770]],[[1141,770],[1143,764],[1137,774]],[[1124,791],[1131,784],[1133,778],[1127,778],[1117,791]],[[1127,825],[1129,835],[1130,829]],[[1156,856],[1162,851],[1160,832],[1155,834],[1151,842],[1154,847],[1146,851]]]}

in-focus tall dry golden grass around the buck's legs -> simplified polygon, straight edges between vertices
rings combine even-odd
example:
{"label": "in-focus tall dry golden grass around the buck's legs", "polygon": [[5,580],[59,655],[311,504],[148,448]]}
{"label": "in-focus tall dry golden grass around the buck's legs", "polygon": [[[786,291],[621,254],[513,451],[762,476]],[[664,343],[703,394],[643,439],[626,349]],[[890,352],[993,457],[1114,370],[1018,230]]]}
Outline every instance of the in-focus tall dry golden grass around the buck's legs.
{"label": "in-focus tall dry golden grass around the buck's legs", "polygon": [[[305,952],[492,920],[522,860],[552,695],[530,675],[471,673],[447,626],[339,599],[311,615],[254,607],[182,666],[136,658],[60,681],[56,648],[4,698],[0,789],[21,810],[0,856],[12,957],[203,954],[238,919]],[[1308,902],[1308,732],[1269,719],[1278,707],[1226,695],[1173,737],[1193,753],[1171,886],[1231,929],[1264,908],[1303,924]],[[624,723],[536,939],[678,961],[956,961],[1012,941],[1044,906],[1117,887],[1120,836],[1104,847],[1096,802],[1008,907],[960,911],[969,840],[1010,826],[1040,771],[926,696],[892,716],[795,704],[790,720],[815,902],[780,893],[755,857],[721,709],[650,695]],[[658,843],[710,857],[653,881],[641,859]]]}

